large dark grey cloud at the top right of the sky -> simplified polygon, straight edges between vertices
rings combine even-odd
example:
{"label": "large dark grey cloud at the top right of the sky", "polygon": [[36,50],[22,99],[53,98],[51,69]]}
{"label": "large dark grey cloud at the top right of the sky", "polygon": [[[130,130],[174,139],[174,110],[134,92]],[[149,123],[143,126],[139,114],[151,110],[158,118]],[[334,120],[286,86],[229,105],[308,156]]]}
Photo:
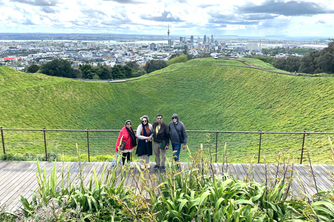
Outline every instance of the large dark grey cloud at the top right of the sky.
{"label": "large dark grey cloud at the top right of the sky", "polygon": [[334,10],[328,10],[325,5],[315,2],[267,0],[260,6],[252,4],[238,7],[237,13],[268,13],[285,16],[301,16],[331,14],[334,13]]}

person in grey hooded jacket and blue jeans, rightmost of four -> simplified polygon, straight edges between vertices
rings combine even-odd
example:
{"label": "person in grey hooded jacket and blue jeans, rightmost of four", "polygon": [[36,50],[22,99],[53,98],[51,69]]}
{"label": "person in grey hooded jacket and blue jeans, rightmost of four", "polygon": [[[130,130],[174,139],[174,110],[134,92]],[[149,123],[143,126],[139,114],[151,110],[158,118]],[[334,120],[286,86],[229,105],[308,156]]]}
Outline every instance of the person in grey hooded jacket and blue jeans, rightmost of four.
{"label": "person in grey hooded jacket and blue jeans, rightmost of four", "polygon": [[[170,142],[172,143],[173,151],[176,151],[174,154],[175,162],[179,161],[180,158],[180,151],[181,151],[181,144],[183,144],[182,148],[186,148],[186,128],[182,121],[180,121],[179,116],[174,113],[172,115],[172,121],[169,123],[169,132],[170,132]],[[179,168],[179,165],[177,164]]]}

